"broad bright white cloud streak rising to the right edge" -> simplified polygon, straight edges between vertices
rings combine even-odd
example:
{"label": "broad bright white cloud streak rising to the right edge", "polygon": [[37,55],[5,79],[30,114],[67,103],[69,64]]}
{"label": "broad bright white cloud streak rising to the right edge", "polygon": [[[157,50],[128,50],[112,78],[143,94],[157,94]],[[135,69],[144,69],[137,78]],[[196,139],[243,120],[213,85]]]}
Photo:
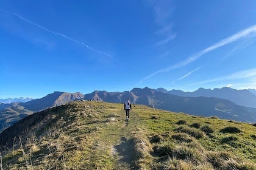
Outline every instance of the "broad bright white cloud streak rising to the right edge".
{"label": "broad bright white cloud streak rising to the right edge", "polygon": [[158,73],[169,72],[169,70],[187,66],[187,64],[190,64],[190,63],[196,61],[197,59],[199,59],[205,53],[211,52],[213,50],[218,49],[219,47],[225,46],[227,44],[238,41],[240,39],[251,38],[252,36],[256,36],[256,25],[252,25],[251,27],[248,27],[247,29],[241,30],[240,32],[235,33],[234,35],[229,36],[228,38],[225,38],[225,39],[222,39],[219,42],[216,42],[212,46],[207,47],[206,49],[201,50],[197,53],[194,53],[193,55],[188,57],[186,60],[181,61],[180,63],[174,64],[172,66],[160,69],[157,72],[151,73],[151,75],[148,75],[147,77],[144,77],[140,82],[142,83],[144,80],[147,80],[148,78],[151,78],[154,75],[157,75]]}

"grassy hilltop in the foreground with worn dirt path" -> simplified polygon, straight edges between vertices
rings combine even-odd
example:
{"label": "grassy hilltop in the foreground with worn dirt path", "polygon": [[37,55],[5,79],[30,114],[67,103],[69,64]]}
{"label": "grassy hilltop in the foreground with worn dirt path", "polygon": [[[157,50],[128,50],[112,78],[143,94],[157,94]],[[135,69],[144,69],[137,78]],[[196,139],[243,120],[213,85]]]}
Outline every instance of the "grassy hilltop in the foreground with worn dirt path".
{"label": "grassy hilltop in the foreground with worn dirt path", "polygon": [[256,169],[255,124],[74,101],[0,134],[2,169]]}

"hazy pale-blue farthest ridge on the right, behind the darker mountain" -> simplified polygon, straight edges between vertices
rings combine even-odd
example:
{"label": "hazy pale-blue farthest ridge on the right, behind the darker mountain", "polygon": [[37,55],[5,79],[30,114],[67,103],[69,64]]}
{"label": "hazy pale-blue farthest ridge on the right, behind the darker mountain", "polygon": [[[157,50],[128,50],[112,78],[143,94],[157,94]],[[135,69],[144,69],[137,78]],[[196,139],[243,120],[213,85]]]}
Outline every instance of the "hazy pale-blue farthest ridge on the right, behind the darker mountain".
{"label": "hazy pale-blue farthest ridge on the right, behind the darker mountain", "polygon": [[[157,89],[158,90],[158,89]],[[163,91],[163,90],[161,90]],[[216,97],[233,101],[233,103],[256,108],[256,90],[236,90],[230,87],[223,87],[221,89],[204,89],[199,88],[194,92],[183,92],[182,90],[170,90],[166,92],[172,95],[179,95],[181,97]]]}

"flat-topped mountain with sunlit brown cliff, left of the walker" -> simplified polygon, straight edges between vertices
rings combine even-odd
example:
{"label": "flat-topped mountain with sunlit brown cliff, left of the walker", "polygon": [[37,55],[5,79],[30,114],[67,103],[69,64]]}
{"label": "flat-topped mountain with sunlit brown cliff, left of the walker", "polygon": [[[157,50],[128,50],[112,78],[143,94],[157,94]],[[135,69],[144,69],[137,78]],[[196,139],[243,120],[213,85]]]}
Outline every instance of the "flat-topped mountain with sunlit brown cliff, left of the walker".
{"label": "flat-topped mountain with sunlit brown cliff, left of the walker", "polygon": [[54,92],[46,95],[46,97],[27,101],[26,103],[0,104],[0,132],[34,112],[82,98],[84,98],[84,95],[79,92]]}

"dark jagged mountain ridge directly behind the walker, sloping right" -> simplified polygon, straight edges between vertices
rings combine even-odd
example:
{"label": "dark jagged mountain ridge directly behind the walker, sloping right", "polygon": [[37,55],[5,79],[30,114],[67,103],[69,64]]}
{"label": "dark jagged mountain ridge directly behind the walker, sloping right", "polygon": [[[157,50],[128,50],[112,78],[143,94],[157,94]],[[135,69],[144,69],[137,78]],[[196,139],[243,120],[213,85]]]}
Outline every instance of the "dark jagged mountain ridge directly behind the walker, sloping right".
{"label": "dark jagged mountain ridge directly behind the walker, sloping right", "polygon": [[130,92],[108,93],[94,91],[85,95],[87,100],[107,101],[111,103],[124,102],[130,98],[133,103],[144,104],[157,109],[185,114],[201,115],[204,117],[217,116],[222,119],[231,119],[244,122],[256,121],[256,109],[239,106],[232,101],[214,97],[180,97],[178,95],[164,94],[154,89],[134,88]]}

